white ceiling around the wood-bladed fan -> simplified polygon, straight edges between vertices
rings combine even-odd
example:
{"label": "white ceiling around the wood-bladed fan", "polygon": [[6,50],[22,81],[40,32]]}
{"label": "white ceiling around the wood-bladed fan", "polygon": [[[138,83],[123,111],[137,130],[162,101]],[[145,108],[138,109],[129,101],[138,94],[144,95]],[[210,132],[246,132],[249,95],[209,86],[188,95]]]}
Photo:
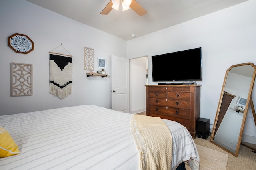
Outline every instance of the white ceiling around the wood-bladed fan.
{"label": "white ceiling around the wood-bladed fan", "polygon": [[27,1],[124,40],[131,40],[132,34],[137,38],[247,0],[136,0],[148,12],[144,16],[139,16],[132,9],[112,9],[108,15],[101,15],[110,0]]}

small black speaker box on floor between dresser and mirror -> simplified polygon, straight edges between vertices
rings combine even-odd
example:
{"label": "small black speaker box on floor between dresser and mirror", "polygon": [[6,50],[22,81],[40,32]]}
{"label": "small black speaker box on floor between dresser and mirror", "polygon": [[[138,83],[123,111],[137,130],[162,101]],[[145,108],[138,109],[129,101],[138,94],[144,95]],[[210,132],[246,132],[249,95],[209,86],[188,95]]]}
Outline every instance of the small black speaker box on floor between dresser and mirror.
{"label": "small black speaker box on floor between dresser and mirror", "polygon": [[200,118],[196,125],[197,137],[207,139],[210,133],[210,119]]}

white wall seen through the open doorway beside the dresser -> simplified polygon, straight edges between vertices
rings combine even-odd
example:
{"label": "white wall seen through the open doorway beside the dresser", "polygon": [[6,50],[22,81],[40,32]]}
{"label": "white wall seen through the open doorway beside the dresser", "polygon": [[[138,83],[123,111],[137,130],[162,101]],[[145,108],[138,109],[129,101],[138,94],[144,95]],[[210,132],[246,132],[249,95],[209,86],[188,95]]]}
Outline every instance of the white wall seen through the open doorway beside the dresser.
{"label": "white wall seen through the open doorway beside the dresser", "polygon": [[130,59],[130,113],[146,111],[146,57]]}

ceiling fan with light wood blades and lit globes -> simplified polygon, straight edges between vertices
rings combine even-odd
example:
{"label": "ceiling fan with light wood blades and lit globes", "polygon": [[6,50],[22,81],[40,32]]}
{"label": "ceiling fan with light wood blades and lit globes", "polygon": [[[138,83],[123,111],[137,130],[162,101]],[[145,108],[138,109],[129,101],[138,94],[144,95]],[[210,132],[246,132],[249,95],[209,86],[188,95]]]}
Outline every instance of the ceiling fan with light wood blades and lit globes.
{"label": "ceiling fan with light wood blades and lit globes", "polygon": [[100,12],[100,14],[107,15],[113,8],[118,10],[119,2],[121,2],[123,11],[128,10],[129,7],[132,8],[139,16],[143,16],[147,11],[140,6],[136,0],[110,0],[107,6]]}

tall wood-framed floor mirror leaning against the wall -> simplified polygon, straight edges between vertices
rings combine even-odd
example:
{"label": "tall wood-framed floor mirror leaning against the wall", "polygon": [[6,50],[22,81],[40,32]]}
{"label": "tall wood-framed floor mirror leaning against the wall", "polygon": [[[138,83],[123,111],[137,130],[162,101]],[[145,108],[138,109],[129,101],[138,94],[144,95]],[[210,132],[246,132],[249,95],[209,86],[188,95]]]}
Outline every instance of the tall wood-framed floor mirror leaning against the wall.
{"label": "tall wood-framed floor mirror leaning against the wall", "polygon": [[254,115],[255,127],[252,128],[256,128],[252,102],[255,76],[256,66],[243,63],[232,65],[224,78],[210,142],[234,156],[238,156],[248,108]]}

